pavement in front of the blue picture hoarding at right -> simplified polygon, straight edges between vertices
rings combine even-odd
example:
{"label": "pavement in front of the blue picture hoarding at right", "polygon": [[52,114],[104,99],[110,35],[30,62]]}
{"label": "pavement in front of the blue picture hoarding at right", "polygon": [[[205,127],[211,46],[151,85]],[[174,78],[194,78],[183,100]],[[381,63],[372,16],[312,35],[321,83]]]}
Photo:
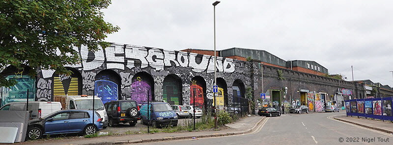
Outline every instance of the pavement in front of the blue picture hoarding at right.
{"label": "pavement in front of the blue picture hoarding at right", "polygon": [[346,115],[335,116],[334,119],[393,134],[393,123],[391,121],[372,120],[369,118],[365,119],[364,117],[351,117]]}

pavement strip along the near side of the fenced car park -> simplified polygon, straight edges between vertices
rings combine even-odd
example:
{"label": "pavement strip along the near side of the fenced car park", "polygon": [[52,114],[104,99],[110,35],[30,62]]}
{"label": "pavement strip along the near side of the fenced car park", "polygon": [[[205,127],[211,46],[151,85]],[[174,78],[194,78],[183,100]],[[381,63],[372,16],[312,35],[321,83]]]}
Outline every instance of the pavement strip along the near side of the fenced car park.
{"label": "pavement strip along the near side of the fenced car park", "polygon": [[41,141],[28,141],[23,143],[16,143],[14,145],[113,145],[113,144],[131,144],[131,143],[146,143],[157,142],[164,140],[184,140],[192,138],[208,138],[221,137],[230,135],[246,134],[255,130],[266,117],[251,116],[245,117],[225,125],[222,130],[208,130],[208,131],[193,131],[193,132],[178,132],[178,133],[154,133],[154,134],[133,134],[121,136],[103,136],[97,138],[69,138],[69,139],[50,139]]}

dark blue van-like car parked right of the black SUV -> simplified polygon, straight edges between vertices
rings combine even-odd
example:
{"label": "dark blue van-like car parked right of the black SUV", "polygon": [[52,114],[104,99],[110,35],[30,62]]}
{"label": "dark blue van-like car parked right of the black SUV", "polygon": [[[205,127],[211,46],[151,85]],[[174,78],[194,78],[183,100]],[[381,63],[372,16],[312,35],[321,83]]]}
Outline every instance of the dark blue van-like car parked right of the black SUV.
{"label": "dark blue van-like car parked right of the black SUV", "polygon": [[[149,109],[149,114],[147,113]],[[143,103],[140,108],[142,124],[155,126],[156,128],[170,125],[177,126],[177,115],[167,102],[147,102]]]}

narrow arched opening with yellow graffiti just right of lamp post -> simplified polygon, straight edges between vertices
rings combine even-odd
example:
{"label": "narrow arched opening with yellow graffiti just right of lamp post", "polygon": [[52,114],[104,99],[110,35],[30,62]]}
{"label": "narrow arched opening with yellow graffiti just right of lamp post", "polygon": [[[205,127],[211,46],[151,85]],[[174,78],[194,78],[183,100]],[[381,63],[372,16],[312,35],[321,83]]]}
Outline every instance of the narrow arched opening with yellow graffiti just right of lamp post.
{"label": "narrow arched opening with yellow graffiti just right of lamp post", "polygon": [[[218,95],[216,96],[217,102],[216,106],[219,109],[224,109],[224,106],[228,103],[228,87],[224,78],[217,78]],[[213,97],[214,99],[214,97]]]}

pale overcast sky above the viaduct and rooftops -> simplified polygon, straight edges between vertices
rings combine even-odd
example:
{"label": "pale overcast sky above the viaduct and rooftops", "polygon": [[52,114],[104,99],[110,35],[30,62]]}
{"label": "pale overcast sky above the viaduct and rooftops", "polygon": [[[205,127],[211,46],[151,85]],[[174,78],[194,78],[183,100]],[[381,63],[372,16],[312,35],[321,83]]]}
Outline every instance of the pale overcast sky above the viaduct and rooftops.
{"label": "pale overcast sky above the viaduct and rooftops", "polygon": [[[108,42],[181,50],[213,48],[215,0],[112,0]],[[331,74],[393,86],[392,0],[221,0],[217,48],[264,49],[314,60]]]}

